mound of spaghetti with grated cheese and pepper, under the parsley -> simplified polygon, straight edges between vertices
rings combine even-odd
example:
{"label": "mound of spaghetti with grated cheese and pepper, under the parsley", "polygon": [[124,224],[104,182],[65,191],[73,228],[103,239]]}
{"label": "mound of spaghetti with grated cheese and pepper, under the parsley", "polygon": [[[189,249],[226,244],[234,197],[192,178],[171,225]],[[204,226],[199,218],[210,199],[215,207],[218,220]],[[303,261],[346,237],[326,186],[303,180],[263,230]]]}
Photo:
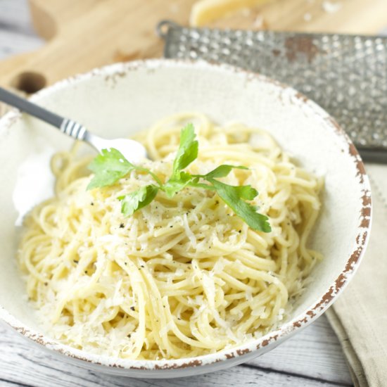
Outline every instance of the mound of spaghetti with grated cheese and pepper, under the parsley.
{"label": "mound of spaghetti with grated cheese and pepper, under the parsley", "polygon": [[124,217],[118,196],[149,184],[133,171],[87,191],[91,158],[58,153],[56,196],[25,219],[18,258],[27,293],[51,336],[91,353],[130,359],[194,357],[261,336],[281,324],[321,255],[307,248],[322,179],[294,165],[265,131],[213,125],[198,113],[160,120],[136,139],[170,175],[179,130],[193,122],[200,151],[192,174],[220,164],[228,184],[251,184],[253,204],[269,217],[265,234],[220,201],[215,191],[159,192]]}

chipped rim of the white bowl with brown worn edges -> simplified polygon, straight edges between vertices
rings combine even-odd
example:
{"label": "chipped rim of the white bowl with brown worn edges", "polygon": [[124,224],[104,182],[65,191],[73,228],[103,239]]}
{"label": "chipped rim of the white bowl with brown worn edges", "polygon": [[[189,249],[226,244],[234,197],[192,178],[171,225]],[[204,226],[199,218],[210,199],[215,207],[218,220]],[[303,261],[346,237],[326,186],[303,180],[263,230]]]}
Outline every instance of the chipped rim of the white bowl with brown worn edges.
{"label": "chipped rim of the white bowl with brown worn edges", "polygon": [[[371,189],[369,185],[369,179],[364,169],[364,164],[360,158],[359,153],[357,152],[352,141],[349,139],[344,130],[338,125],[334,118],[326,113],[325,110],[320,108],[317,103],[308,99],[305,95],[296,91],[292,87],[288,87],[281,82],[272,80],[265,75],[260,75],[254,72],[249,72],[247,70],[242,70],[240,68],[235,68],[231,65],[219,64],[219,63],[209,63],[205,61],[189,61],[189,60],[179,60],[179,59],[148,59],[141,61],[132,61],[127,63],[115,63],[113,65],[107,65],[102,68],[96,68],[89,72],[86,72],[81,75],[75,75],[73,77],[68,77],[65,80],[56,82],[50,87],[46,87],[41,91],[38,91],[31,97],[32,101],[39,101],[41,97],[49,96],[53,91],[58,91],[65,89],[70,85],[77,84],[77,82],[82,82],[84,80],[89,80],[94,76],[103,76],[106,77],[114,75],[125,75],[127,72],[138,69],[146,70],[156,70],[162,67],[188,67],[188,68],[201,68],[202,70],[220,70],[228,74],[240,74],[246,76],[247,80],[257,80],[258,82],[268,82],[274,84],[276,87],[283,89],[286,93],[296,97],[300,100],[300,103],[307,104],[308,108],[312,109],[313,113],[324,118],[326,123],[331,127],[334,132],[336,132],[338,137],[341,137],[348,144],[348,156],[355,163],[357,170],[357,178],[359,180],[359,185],[361,191],[364,193],[362,197],[362,210],[360,211],[360,225],[357,226],[357,238],[355,241],[355,248],[348,258],[345,267],[338,275],[333,284],[329,289],[324,293],[324,295],[319,298],[315,303],[312,303],[305,312],[301,313],[297,317],[294,317],[290,321],[286,322],[284,325],[280,326],[279,329],[270,331],[265,336],[261,338],[254,339],[248,343],[243,343],[238,345],[235,348],[230,348],[226,350],[221,350],[220,352],[201,355],[198,357],[186,357],[176,360],[124,360],[116,357],[108,357],[101,355],[94,355],[87,353],[84,350],[77,350],[71,348],[69,345],[64,345],[53,341],[53,339],[46,337],[43,334],[40,334],[33,329],[29,329],[18,319],[13,317],[10,312],[8,312],[4,307],[0,305],[0,318],[4,320],[9,326],[11,326],[15,331],[20,332],[25,338],[29,338],[35,343],[42,345],[44,348],[53,350],[56,353],[61,353],[70,358],[82,360],[84,362],[103,365],[106,367],[113,367],[117,369],[132,369],[132,370],[156,370],[156,369],[185,369],[187,367],[199,367],[204,365],[210,365],[217,362],[222,362],[224,360],[229,360],[236,357],[243,357],[248,353],[252,353],[255,350],[260,348],[267,347],[267,345],[272,345],[276,342],[282,341],[286,336],[289,336],[294,331],[299,330],[307,324],[310,324],[317,317],[322,315],[322,313],[331,305],[331,303],[336,300],[338,295],[343,291],[345,286],[348,285],[350,278],[353,277],[357,267],[360,265],[364,251],[367,248],[367,243],[369,241],[369,231],[371,227],[371,217],[372,217],[372,199],[371,199]],[[18,110],[11,110],[6,113],[0,119],[0,129],[7,129],[13,125],[16,120],[21,119],[21,114]],[[239,362],[242,362],[240,360]]]}

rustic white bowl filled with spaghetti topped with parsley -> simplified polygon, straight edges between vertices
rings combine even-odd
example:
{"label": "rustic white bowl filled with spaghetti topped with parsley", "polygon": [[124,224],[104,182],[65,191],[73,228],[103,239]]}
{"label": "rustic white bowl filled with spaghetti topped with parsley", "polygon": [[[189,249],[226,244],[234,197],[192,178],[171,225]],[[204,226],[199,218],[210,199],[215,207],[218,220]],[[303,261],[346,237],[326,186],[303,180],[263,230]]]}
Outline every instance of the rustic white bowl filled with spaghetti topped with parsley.
{"label": "rustic white bowl filled with spaghetti topped with parsley", "polygon": [[148,159],[0,120],[0,317],[82,367],[212,372],[322,315],[369,236],[364,165],[329,115],[266,77],[140,61],[32,97]]}

